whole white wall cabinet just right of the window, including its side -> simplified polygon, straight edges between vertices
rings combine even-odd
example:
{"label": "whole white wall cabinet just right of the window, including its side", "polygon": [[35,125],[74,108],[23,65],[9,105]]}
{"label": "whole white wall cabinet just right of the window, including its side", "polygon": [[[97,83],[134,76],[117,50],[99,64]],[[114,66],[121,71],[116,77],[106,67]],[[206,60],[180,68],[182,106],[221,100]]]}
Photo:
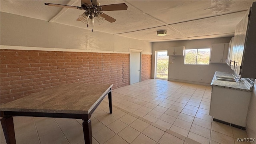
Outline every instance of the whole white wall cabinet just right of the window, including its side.
{"label": "whole white wall cabinet just right of the window, including its side", "polygon": [[228,43],[212,44],[210,63],[226,63]]}

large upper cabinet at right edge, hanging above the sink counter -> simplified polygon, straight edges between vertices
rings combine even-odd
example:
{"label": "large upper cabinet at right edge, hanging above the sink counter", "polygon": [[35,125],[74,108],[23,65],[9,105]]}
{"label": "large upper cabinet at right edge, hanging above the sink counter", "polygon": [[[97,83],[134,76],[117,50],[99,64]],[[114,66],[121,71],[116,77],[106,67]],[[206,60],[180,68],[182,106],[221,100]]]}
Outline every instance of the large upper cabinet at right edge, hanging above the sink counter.
{"label": "large upper cabinet at right edge, hanging above the sink counter", "polygon": [[231,68],[241,78],[256,78],[256,2],[235,30]]}

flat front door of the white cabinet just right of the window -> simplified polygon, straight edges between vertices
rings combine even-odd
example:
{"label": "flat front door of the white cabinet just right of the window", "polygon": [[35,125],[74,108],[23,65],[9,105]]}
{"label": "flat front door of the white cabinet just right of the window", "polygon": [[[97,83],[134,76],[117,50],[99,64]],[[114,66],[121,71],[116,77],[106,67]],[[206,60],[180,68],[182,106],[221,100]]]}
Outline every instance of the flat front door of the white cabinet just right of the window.
{"label": "flat front door of the white cabinet just right of the window", "polygon": [[225,44],[212,44],[210,63],[222,63]]}

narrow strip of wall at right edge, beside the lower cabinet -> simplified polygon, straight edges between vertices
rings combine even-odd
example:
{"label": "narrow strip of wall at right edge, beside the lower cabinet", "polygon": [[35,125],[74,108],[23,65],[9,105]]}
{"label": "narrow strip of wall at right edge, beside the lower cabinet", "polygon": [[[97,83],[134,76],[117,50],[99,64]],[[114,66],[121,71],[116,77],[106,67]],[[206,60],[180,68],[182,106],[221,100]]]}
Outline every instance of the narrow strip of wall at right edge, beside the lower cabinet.
{"label": "narrow strip of wall at right edge, beside the lower cabinet", "polygon": [[[256,80],[248,108],[246,126],[248,138],[256,138]],[[256,144],[256,142],[251,142],[251,144]]]}

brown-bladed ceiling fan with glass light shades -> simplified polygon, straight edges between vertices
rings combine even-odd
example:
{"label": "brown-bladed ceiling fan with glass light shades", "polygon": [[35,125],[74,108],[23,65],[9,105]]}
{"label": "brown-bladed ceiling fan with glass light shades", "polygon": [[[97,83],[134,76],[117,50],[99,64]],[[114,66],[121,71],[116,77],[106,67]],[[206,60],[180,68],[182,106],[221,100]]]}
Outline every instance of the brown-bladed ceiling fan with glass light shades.
{"label": "brown-bladed ceiling fan with glass light shades", "polygon": [[[83,14],[78,16],[77,21],[84,22],[88,26],[95,26],[94,23],[102,24],[105,20],[108,22],[115,22],[116,19],[104,14],[104,11],[112,10],[127,10],[127,5],[122,4],[109,4],[100,6],[100,3],[97,0],[81,0],[81,7],[79,6],[68,6],[62,4],[51,4],[44,3],[48,6],[57,6],[62,8],[76,8],[78,10],[85,10]],[[92,30],[93,31],[93,30]]]}

